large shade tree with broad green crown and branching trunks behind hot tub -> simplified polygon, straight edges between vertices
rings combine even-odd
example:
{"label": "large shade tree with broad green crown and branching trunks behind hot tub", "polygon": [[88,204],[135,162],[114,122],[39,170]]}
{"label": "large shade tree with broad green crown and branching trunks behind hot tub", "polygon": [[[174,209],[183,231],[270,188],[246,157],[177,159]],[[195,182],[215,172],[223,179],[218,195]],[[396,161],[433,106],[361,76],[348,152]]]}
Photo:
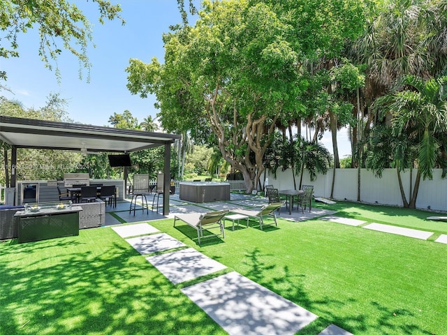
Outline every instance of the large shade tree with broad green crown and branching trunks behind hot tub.
{"label": "large shade tree with broad green crown and branching trunks behind hot tub", "polygon": [[264,3],[205,2],[194,27],[165,35],[165,63],[131,60],[129,90],[156,94],[168,131],[210,128],[223,158],[258,185],[281,113],[301,109],[291,27]]}

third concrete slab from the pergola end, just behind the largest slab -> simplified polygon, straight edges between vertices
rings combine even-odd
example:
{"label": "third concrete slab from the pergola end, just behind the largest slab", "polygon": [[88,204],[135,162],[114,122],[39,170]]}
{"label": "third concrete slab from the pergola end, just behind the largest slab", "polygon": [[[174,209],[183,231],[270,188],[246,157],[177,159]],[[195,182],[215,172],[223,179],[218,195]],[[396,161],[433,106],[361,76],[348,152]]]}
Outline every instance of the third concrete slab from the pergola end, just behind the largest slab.
{"label": "third concrete slab from the pergola end, just behind the largest slab", "polygon": [[146,259],[174,284],[226,269],[225,265],[194,248],[149,256]]}

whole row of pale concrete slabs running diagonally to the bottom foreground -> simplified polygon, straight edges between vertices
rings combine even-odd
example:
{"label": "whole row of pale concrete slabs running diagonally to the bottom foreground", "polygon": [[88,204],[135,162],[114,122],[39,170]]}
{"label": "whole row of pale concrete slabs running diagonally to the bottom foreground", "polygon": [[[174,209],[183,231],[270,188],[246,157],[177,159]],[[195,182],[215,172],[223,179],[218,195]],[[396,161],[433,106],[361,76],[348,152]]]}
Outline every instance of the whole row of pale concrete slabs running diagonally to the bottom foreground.
{"label": "whole row of pale concrete slabs running diagonally to the bottom foreground", "polygon": [[[168,251],[149,256],[146,260],[174,284],[226,269],[225,265],[194,248],[169,252],[169,249],[186,245],[163,232],[152,234],[158,230],[147,223],[112,229],[122,237],[151,234],[126,241],[142,255]],[[230,335],[292,335],[318,318],[314,313],[235,271],[187,286],[182,288],[182,292]],[[330,325],[321,335],[351,333]]]}

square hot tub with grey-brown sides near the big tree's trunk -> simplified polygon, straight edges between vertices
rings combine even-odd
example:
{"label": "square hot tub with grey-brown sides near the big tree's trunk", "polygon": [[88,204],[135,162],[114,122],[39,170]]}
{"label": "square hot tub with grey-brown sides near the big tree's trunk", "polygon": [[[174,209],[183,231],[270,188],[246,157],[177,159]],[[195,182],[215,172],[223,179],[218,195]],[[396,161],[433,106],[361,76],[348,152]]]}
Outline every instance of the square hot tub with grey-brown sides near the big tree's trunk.
{"label": "square hot tub with grey-brown sides near the big tree's trunk", "polygon": [[214,181],[180,183],[179,197],[191,202],[230,200],[230,184]]}

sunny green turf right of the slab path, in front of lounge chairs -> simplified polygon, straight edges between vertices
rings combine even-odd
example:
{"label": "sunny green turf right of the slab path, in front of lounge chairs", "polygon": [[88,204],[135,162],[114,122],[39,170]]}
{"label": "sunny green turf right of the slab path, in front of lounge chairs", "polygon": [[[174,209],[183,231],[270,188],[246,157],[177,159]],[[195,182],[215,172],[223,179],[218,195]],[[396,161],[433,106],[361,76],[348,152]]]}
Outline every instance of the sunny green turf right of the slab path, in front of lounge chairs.
{"label": "sunny green turf right of the slab path, in front of lounge chairs", "polygon": [[353,334],[447,332],[444,244],[280,218],[279,229],[227,229],[198,246],[172,220],[151,224]]}

